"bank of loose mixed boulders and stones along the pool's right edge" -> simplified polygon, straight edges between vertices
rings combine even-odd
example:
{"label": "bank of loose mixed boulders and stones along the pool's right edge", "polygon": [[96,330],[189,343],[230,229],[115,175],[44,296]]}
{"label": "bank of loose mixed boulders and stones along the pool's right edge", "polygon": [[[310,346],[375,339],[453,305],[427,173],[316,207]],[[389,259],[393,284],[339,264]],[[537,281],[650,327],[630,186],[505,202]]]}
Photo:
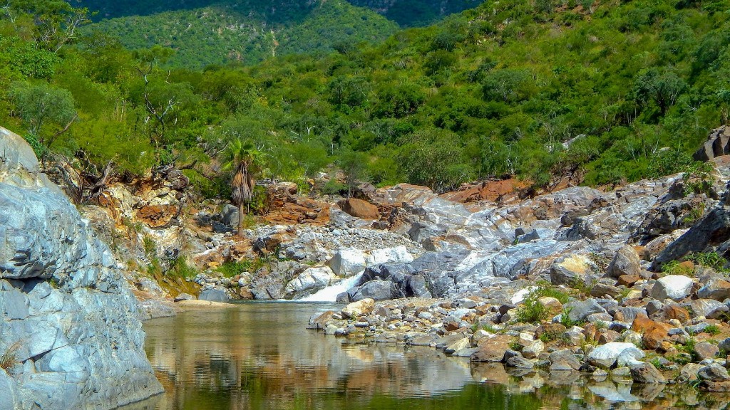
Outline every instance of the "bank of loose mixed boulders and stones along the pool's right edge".
{"label": "bank of loose mixed boulders and stones along the pool's right edge", "polygon": [[[307,328],[360,341],[431,347],[472,363],[503,363],[523,375],[729,389],[727,322],[707,319],[699,307],[690,313],[651,298],[580,296],[566,287],[541,285],[502,305],[479,296],[364,299],[312,317]],[[558,300],[563,298],[565,303]],[[552,319],[544,314],[535,320],[534,312],[550,312]]]}

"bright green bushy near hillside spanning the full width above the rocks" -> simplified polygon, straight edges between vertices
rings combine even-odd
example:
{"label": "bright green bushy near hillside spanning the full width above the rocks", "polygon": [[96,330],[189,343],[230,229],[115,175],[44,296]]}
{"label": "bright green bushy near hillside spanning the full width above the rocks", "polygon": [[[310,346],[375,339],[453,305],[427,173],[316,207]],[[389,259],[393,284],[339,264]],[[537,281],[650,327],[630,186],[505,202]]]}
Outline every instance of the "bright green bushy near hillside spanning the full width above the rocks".
{"label": "bright green bushy near hillside spanning the full width above the rocks", "polygon": [[242,141],[260,176],[298,182],[617,184],[689,166],[730,109],[730,1],[487,1],[375,45],[204,69],[85,31],[62,1],[1,11],[1,124],[81,177],[174,166],[207,196]]}

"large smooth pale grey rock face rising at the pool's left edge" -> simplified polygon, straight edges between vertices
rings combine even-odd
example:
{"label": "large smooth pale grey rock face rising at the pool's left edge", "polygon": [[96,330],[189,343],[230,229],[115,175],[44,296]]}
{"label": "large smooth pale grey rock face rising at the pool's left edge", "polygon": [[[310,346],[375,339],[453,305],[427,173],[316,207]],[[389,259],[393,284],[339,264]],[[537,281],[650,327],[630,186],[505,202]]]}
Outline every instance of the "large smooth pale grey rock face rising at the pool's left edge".
{"label": "large smooth pale grey rock face rising at the pool's left edge", "polygon": [[0,407],[112,409],[162,391],[109,248],[0,128]]}

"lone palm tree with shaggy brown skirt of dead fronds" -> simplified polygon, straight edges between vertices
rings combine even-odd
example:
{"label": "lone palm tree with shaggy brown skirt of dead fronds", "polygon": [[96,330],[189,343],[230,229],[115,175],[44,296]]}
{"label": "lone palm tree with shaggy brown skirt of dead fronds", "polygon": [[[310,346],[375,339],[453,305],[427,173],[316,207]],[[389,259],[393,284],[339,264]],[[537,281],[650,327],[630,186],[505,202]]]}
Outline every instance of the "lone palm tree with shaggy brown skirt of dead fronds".
{"label": "lone palm tree with shaggy brown skirt of dead fronds", "polygon": [[223,169],[235,170],[231,178],[231,199],[234,205],[238,206],[238,234],[242,235],[243,208],[250,204],[253,197],[253,187],[256,184],[254,175],[260,170],[258,160],[261,158],[261,152],[256,150],[250,141],[234,139],[228,144],[223,155],[228,160]]}

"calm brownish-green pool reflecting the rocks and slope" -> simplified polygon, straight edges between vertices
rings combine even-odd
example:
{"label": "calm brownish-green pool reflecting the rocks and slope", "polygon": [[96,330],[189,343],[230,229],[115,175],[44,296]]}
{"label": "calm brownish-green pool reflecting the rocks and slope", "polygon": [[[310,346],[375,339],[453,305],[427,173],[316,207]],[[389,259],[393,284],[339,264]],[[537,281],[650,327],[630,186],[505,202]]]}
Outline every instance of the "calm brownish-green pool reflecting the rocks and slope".
{"label": "calm brownish-green pool reflecting the rocks and slope", "polygon": [[[165,392],[125,410],[723,409],[691,389],[520,374],[427,347],[358,344],[306,330],[337,305],[242,303],[145,323]],[[699,407],[695,407],[699,405]]]}

